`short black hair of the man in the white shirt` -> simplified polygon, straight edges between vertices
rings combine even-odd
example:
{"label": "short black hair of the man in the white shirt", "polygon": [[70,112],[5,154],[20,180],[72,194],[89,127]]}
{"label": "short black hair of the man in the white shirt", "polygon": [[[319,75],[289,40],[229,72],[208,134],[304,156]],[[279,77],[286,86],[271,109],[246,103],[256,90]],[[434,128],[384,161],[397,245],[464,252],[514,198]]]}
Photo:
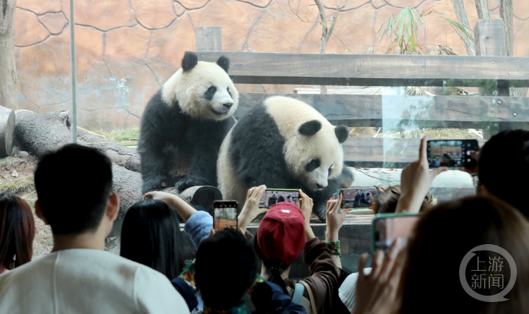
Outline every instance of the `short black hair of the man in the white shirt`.
{"label": "short black hair of the man in the white shirt", "polygon": [[107,210],[112,163],[98,150],[68,144],[39,160],[35,188],[54,234],[92,232]]}

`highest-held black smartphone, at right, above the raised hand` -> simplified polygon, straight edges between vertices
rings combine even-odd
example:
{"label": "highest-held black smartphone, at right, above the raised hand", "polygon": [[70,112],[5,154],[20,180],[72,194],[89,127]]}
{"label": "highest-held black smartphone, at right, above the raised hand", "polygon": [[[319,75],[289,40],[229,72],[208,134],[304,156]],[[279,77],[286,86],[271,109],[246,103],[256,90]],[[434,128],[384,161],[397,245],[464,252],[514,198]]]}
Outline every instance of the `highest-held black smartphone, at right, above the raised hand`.
{"label": "highest-held black smartphone, at right, above the raised hand", "polygon": [[473,168],[478,162],[470,156],[471,150],[480,150],[478,140],[428,140],[428,164],[430,168]]}

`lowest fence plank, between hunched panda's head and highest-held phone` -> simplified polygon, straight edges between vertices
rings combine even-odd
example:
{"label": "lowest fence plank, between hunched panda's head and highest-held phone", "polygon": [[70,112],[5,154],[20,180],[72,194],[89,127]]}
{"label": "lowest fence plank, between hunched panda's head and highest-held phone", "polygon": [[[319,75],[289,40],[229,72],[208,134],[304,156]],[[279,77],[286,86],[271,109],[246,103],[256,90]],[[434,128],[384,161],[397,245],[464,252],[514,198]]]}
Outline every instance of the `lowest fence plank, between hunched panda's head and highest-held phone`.
{"label": "lowest fence plank, between hunched panda's head and highest-held phone", "polygon": [[348,138],[342,144],[343,159],[349,167],[403,168],[418,159],[419,145],[415,138]]}

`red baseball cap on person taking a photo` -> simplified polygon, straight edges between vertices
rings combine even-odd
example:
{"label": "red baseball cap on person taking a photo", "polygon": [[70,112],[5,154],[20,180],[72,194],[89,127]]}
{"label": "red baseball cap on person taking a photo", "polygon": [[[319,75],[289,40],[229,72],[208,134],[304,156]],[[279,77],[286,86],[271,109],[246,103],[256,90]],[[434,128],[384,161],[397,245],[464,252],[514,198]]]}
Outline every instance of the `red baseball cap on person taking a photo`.
{"label": "red baseball cap on person taking a photo", "polygon": [[305,246],[305,217],[298,206],[281,202],[273,205],[257,229],[257,244],[265,258],[279,258],[290,265]]}

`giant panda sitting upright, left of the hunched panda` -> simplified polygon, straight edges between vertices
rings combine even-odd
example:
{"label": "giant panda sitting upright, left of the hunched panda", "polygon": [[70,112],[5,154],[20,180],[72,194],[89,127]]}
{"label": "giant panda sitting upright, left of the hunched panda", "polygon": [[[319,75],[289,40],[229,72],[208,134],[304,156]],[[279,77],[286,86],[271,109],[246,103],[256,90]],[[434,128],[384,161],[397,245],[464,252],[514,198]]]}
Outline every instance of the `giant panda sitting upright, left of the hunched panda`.
{"label": "giant panda sitting upright, left of the hunched panda", "polygon": [[217,186],[219,148],[238,105],[228,70],[225,56],[212,63],[186,52],[181,69],[150,99],[138,143],[143,193]]}

